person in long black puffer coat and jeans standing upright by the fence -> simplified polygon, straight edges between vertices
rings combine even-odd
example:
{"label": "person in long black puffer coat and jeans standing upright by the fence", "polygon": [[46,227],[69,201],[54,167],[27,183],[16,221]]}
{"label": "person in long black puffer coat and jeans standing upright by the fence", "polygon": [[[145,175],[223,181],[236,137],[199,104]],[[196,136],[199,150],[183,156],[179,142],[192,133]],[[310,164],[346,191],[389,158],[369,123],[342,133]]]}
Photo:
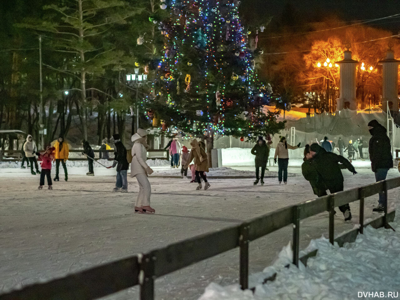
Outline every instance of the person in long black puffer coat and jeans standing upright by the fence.
{"label": "person in long black puffer coat and jeans standing upright by the fence", "polygon": [[[370,138],[368,152],[370,154],[371,169],[375,173],[375,180],[385,180],[390,168],[393,167],[392,146],[384,128],[377,120],[368,123]],[[384,193],[379,193],[378,207],[374,212],[383,212],[387,205]]]}

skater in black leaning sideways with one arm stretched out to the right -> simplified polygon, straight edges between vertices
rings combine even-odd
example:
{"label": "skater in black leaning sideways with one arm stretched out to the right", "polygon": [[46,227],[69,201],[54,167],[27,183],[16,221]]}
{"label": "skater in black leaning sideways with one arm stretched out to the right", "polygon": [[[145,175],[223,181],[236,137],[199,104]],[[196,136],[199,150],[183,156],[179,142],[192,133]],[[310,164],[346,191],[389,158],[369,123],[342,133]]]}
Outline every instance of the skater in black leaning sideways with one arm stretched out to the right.
{"label": "skater in black leaning sideways with one arm stretched out to the right", "polygon": [[[348,169],[353,174],[357,174],[354,166],[346,158],[333,152],[326,152],[324,148],[316,143],[310,146],[310,154],[312,156],[312,164],[331,194],[343,190],[344,178],[341,171],[342,167]],[[339,206],[339,209],[344,215],[344,220],[351,222],[350,206],[344,204]]]}

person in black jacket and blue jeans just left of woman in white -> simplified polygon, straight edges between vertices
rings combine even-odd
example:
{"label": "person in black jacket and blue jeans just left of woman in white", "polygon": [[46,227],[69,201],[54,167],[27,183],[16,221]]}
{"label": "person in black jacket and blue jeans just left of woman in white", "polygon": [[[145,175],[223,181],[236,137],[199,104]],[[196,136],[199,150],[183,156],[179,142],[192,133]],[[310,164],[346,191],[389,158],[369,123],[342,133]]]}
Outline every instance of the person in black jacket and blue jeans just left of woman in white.
{"label": "person in black jacket and blue jeans just left of woman in white", "polygon": [[128,180],[126,179],[126,175],[129,168],[129,162],[126,158],[126,148],[124,144],[122,144],[119,134],[113,134],[112,138],[114,140],[114,149],[116,151],[114,152],[114,164],[112,166],[117,166],[117,178],[113,192],[127,192]]}

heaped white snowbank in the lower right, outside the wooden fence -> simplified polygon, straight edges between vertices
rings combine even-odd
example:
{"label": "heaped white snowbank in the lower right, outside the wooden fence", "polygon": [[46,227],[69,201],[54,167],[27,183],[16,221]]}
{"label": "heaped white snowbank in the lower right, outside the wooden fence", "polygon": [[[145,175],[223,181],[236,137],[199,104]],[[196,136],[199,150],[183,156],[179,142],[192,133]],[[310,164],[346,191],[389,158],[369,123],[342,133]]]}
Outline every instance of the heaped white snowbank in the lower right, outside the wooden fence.
{"label": "heaped white snowbank in the lower right, outside the wooden fence", "polygon": [[[400,290],[400,219],[390,225],[396,232],[367,226],[354,243],[346,243],[342,248],[337,243],[331,245],[324,237],[312,240],[300,254],[301,257],[318,249],[317,256],[308,259],[307,268],[301,262],[299,268],[284,267],[292,260],[288,244],[272,266],[250,276],[249,286],[256,286],[254,295],[249,294],[249,290],[240,290],[237,284],[222,287],[212,283],[199,300],[365,299],[368,292],[383,292],[386,297],[390,297],[388,292],[394,292],[393,298],[397,298],[396,292]],[[277,273],[274,281],[262,284],[274,273]]]}

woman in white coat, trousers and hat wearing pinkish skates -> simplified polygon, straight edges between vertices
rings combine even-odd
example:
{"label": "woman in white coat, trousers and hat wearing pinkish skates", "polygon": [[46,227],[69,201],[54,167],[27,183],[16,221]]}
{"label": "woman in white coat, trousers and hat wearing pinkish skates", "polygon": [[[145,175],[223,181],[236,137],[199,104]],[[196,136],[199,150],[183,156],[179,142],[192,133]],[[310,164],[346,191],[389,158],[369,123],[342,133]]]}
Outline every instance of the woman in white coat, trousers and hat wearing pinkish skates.
{"label": "woman in white coat, trousers and hat wearing pinkish skates", "polygon": [[130,165],[130,177],[136,177],[139,184],[138,198],[135,202],[135,212],[156,212],[150,207],[151,186],[147,178],[153,170],[146,164],[147,159],[147,131],[139,128],[132,136],[132,162]]}

